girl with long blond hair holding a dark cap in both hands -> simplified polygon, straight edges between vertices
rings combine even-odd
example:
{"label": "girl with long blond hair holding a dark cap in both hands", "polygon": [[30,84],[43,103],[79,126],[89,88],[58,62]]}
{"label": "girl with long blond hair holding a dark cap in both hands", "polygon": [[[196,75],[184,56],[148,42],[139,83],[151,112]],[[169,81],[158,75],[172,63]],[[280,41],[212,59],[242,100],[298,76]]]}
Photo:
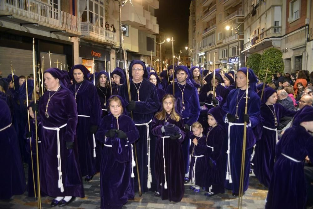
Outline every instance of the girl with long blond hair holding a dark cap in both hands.
{"label": "girl with long blond hair holding a dark cap in both hands", "polygon": [[157,136],[155,173],[157,192],[162,200],[181,201],[184,195],[185,166],[182,141],[185,138],[184,121],[175,110],[175,97],[166,94],[163,109],[152,120],[151,132]]}

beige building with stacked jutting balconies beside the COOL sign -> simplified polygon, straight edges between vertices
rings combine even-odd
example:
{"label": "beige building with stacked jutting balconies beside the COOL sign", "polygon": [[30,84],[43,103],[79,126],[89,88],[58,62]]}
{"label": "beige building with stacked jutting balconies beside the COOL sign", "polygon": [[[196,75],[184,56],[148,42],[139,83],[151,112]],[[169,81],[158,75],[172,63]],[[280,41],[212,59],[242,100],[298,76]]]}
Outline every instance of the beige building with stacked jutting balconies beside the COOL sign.
{"label": "beige building with stacked jutting balconies beside the COOL sign", "polygon": [[[121,22],[124,36],[124,48],[126,49],[126,62],[131,60],[142,60],[150,65],[152,56],[156,56],[156,34],[159,33],[159,25],[154,16],[155,9],[159,8],[158,0],[142,0],[126,2],[121,8]],[[118,1],[110,0],[108,21],[114,25],[119,25]],[[115,27],[119,33],[119,27]],[[115,48],[119,47],[118,44]],[[122,59],[121,59],[122,58]],[[111,60],[116,66],[119,62],[124,62],[123,56],[117,50],[116,59]],[[155,61],[155,58],[153,59]],[[116,64],[117,63],[117,64]],[[123,64],[123,66],[125,66]]]}

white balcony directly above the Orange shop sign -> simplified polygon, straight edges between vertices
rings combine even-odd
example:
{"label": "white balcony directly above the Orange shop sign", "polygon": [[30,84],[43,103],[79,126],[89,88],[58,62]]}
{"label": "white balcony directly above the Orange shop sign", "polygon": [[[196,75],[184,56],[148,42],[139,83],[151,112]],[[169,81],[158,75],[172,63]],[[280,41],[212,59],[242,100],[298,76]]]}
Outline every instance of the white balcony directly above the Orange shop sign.
{"label": "white balcony directly above the Orange shop sign", "polygon": [[104,28],[87,22],[82,22],[80,28],[81,34],[84,35],[84,39],[111,45],[117,44],[117,34],[110,30],[105,30]]}

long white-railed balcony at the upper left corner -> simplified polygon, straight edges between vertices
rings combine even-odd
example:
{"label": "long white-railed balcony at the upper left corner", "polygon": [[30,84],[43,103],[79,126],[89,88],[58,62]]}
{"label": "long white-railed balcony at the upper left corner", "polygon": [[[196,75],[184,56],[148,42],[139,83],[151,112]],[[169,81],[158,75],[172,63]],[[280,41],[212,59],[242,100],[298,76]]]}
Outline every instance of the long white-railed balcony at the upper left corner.
{"label": "long white-railed balcony at the upper left corner", "polygon": [[74,15],[53,8],[39,0],[2,0],[0,15],[14,15],[14,18],[53,29],[80,34],[80,19]]}

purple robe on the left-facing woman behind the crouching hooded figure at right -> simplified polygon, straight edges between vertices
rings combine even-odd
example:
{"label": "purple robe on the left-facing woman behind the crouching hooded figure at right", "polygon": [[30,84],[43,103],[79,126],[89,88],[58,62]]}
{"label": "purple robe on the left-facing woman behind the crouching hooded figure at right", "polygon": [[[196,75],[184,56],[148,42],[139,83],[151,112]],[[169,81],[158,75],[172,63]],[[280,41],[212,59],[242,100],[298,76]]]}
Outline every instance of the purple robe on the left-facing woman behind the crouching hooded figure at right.
{"label": "purple robe on the left-facing woman behind the crouching hooded figure at right", "polygon": [[[269,105],[273,111],[273,106]],[[275,129],[275,119],[273,113],[265,103],[261,105],[261,116],[264,118],[263,126]],[[294,116],[295,111],[291,111],[283,107],[281,104],[274,104],[277,123],[280,123],[280,118],[285,116]],[[273,111],[274,112],[274,111]],[[269,187],[270,176],[274,169],[275,163],[275,146],[276,132],[263,127],[262,137],[256,142],[255,154],[252,162],[254,163],[254,174],[260,183]]]}

